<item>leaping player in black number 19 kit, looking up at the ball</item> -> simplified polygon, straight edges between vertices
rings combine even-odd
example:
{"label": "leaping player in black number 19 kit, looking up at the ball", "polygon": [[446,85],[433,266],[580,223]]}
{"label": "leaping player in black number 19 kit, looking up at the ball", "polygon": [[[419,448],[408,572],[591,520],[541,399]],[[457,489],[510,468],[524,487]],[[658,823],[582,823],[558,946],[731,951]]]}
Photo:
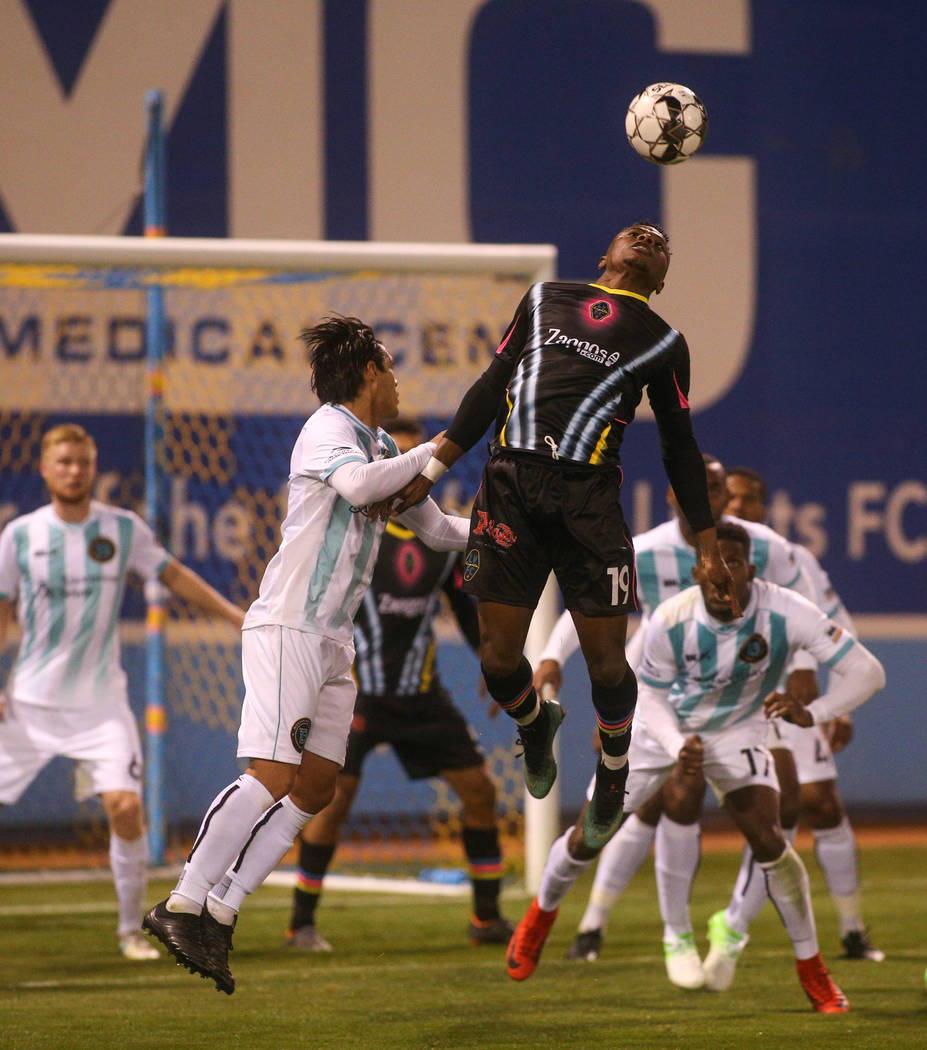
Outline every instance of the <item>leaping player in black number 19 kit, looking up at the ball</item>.
{"label": "leaping player in black number 19 kit, looking up at the ball", "polygon": [[[424,498],[496,420],[470,520],[465,587],[479,598],[487,688],[519,723],[525,782],[543,798],[556,779],[552,746],[564,715],[554,699],[539,700],[523,650],[547,576],[551,570],[556,575],[576,624],[602,740],[576,847],[584,857],[594,856],[617,830],[628,777],[637,697],[625,659],[634,550],[621,513],[619,453],[645,388],[701,570],[733,594],[690,420],[689,349],[648,303],[663,287],[669,260],[666,232],[635,223],[611,242],[592,284],[533,285],[493,361],[464,395],[431,460],[397,506]],[[513,934],[510,965],[530,951],[533,926],[529,912]]]}

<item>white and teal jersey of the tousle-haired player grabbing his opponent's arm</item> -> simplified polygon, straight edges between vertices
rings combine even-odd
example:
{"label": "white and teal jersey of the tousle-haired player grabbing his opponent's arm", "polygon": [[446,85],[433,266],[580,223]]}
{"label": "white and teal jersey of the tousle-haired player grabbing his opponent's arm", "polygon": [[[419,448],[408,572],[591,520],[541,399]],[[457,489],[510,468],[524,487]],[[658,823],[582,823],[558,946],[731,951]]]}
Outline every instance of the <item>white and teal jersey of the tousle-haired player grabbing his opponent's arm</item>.
{"label": "white and teal jersey of the tousle-haired player grabbing his opponent's arm", "polygon": [[398,454],[388,434],[366,426],[343,405],[323,404],[307,420],[290,460],[282,540],[245,630],[275,624],[351,643],[385,525],[368,521],[330,479],[345,463]]}

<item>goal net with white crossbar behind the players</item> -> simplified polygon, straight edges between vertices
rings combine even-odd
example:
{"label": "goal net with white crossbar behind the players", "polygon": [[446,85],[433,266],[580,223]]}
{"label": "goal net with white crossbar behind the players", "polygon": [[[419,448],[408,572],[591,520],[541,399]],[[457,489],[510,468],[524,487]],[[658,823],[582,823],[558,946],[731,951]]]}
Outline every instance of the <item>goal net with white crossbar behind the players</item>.
{"label": "goal net with white crossbar behind the players", "polygon": [[[333,313],[371,323],[396,358],[401,411],[436,433],[485,368],[527,285],[553,276],[554,264],[545,246],[0,235],[0,524],[45,502],[40,441],[63,421],[98,442],[97,498],[145,516],[156,288],[165,314],[159,531],[176,558],[247,606],[279,539],[293,443],[317,406],[300,329]],[[466,508],[483,458],[476,449],[442,479],[439,501]],[[145,637],[143,590],[130,588],[123,660],[142,722]],[[505,827],[519,831],[511,724],[488,719],[477,659],[449,622],[440,643],[442,678],[487,756]],[[164,731],[152,786],[170,860],[237,775],[243,688],[236,633],[173,598],[164,654],[166,720],[151,724],[148,708],[147,728]],[[10,655],[7,648],[4,672]],[[46,770],[0,814],[0,842],[73,843],[99,827],[99,811],[72,801],[71,775],[64,762]],[[368,758],[349,828],[367,865],[401,858],[410,843],[446,842],[457,828],[443,783],[409,783],[391,754]]]}

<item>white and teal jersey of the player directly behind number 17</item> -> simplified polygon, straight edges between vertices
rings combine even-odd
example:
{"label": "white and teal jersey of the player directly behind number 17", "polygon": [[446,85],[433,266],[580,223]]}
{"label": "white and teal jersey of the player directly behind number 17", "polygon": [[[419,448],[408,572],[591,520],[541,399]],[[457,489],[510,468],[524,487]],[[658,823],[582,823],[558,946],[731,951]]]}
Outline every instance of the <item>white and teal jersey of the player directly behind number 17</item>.
{"label": "white and teal jersey of the player directly behind number 17", "polygon": [[[809,581],[803,576],[795,546],[767,525],[741,521],[728,514],[721,521],[736,522],[750,536],[750,560],[756,574],[780,587],[791,587],[809,600],[815,598]],[[674,518],[634,537],[634,567],[637,572],[637,600],[645,616],[668,597],[692,586],[695,548],[682,536]]]}

